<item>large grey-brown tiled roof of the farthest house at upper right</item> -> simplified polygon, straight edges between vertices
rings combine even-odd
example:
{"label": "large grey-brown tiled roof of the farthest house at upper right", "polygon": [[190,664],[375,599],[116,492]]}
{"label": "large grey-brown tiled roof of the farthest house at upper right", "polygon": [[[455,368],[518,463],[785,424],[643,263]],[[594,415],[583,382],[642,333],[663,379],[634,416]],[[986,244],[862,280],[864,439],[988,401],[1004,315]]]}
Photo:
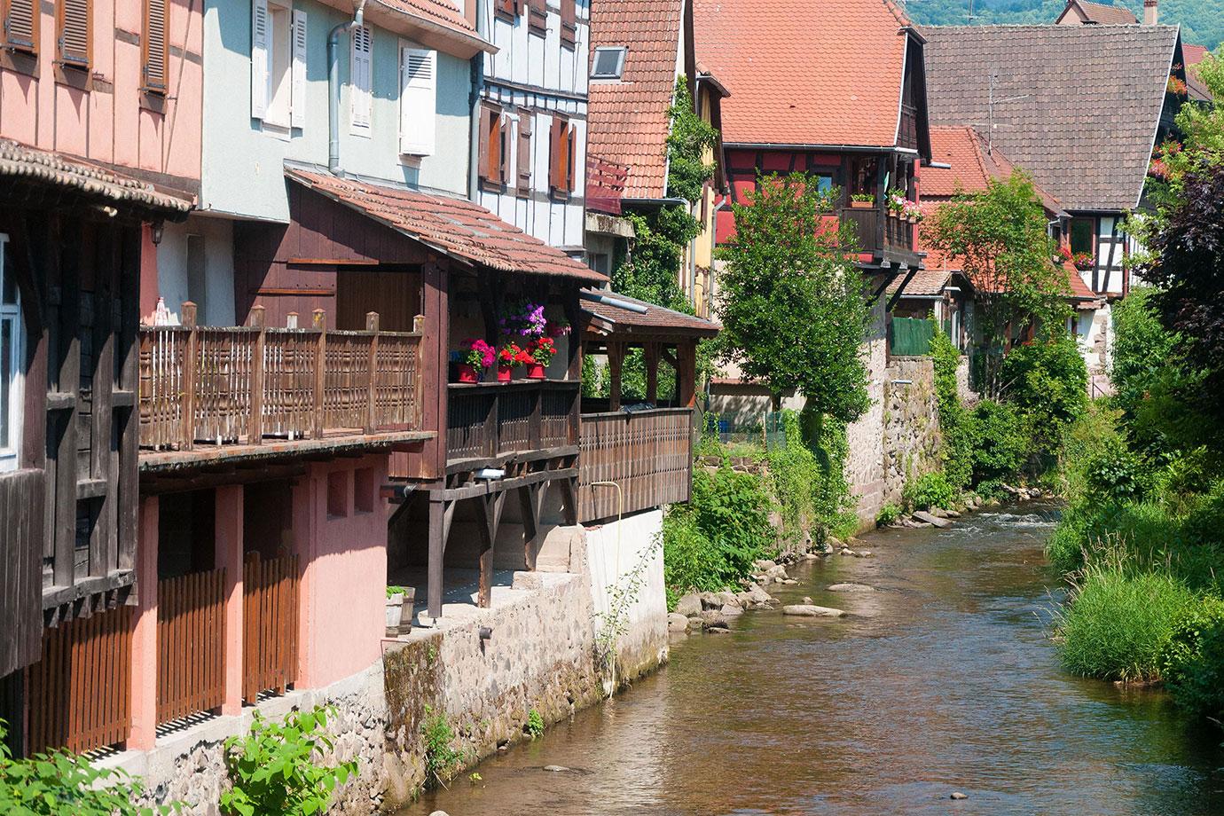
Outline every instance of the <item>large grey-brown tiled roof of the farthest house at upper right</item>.
{"label": "large grey-brown tiled roof of the farthest house at upper right", "polygon": [[[1179,42],[1174,26],[933,26],[931,125],[994,144],[1069,210],[1137,206]],[[1180,61],[1180,57],[1177,57]]]}

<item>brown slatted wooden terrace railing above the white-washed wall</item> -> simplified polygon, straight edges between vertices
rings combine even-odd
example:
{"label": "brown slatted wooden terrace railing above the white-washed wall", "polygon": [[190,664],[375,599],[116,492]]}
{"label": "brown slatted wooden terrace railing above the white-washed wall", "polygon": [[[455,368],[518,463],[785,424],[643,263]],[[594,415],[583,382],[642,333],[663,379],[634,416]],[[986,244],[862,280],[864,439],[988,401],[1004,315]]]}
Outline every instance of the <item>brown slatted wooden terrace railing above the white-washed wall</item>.
{"label": "brown slatted wooden terrace railing above the white-washed wall", "polygon": [[[579,521],[688,502],[693,486],[693,410],[584,414],[578,456]],[[616,482],[617,488],[592,487]]]}

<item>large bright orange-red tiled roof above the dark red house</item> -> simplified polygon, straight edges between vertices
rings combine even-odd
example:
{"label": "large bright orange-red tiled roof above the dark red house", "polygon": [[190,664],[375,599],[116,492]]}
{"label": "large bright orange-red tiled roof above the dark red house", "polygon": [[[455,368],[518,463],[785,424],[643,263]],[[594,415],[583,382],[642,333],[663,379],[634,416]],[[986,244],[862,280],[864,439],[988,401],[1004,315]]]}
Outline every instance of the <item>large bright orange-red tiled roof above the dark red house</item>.
{"label": "large bright orange-red tiled roof above the dark red house", "polygon": [[890,0],[694,0],[723,142],[892,147],[909,20]]}

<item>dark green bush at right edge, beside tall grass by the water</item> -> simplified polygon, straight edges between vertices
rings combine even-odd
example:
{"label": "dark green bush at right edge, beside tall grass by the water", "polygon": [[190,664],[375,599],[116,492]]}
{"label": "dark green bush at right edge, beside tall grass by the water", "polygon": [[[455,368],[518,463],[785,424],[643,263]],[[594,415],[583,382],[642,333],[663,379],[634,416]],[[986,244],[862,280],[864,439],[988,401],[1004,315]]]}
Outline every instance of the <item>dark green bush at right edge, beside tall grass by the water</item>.
{"label": "dark green bush at right edge, beside tall grass by the water", "polygon": [[1177,705],[1224,717],[1224,601],[1204,598],[1176,620],[1164,653],[1164,681]]}

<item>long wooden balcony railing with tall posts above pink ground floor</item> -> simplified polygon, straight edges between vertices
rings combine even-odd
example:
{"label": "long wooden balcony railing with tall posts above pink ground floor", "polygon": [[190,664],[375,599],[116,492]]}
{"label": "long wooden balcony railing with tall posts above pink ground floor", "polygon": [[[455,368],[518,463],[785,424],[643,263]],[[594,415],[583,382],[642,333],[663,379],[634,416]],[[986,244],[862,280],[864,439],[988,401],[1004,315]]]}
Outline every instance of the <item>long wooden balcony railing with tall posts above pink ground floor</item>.
{"label": "long wooden balcony railing with tall posts above pink ground floor", "polygon": [[323,438],[421,427],[419,332],[313,328],[141,328],[141,447],[190,450],[197,442],[261,444],[264,437]]}

